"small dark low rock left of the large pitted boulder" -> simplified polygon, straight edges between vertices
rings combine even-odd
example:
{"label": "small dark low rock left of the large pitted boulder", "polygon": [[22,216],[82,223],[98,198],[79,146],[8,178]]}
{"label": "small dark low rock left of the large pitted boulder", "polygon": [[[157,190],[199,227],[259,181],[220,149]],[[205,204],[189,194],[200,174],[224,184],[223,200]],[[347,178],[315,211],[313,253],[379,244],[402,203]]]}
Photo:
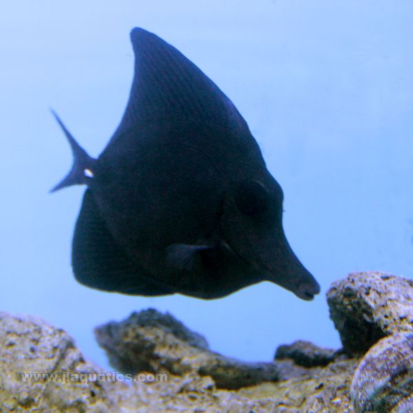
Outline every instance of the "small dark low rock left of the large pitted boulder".
{"label": "small dark low rock left of the large pitted boulder", "polygon": [[293,344],[279,346],[275,360],[293,359],[295,364],[304,367],[327,366],[335,358],[335,350],[321,348],[309,341],[295,341]]}

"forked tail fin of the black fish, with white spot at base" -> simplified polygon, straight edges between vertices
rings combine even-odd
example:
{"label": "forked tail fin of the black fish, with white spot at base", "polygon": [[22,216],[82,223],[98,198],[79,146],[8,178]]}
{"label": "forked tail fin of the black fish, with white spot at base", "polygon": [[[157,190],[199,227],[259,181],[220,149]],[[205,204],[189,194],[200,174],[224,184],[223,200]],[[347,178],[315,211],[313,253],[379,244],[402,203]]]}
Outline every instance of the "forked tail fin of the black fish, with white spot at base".
{"label": "forked tail fin of the black fish, with white spot at base", "polygon": [[63,180],[59,182],[59,184],[57,184],[56,187],[54,187],[50,192],[59,191],[59,189],[70,187],[71,185],[87,184],[89,180],[93,178],[92,166],[95,159],[91,158],[86,153],[85,149],[78,145],[78,142],[76,142],[74,137],[66,129],[65,125],[63,125],[63,122],[59,116],[57,116],[53,110],[52,114],[63,129],[63,132],[65,132],[65,136],[69,141],[70,147],[72,148],[73,166],[67,176],[63,178]]}

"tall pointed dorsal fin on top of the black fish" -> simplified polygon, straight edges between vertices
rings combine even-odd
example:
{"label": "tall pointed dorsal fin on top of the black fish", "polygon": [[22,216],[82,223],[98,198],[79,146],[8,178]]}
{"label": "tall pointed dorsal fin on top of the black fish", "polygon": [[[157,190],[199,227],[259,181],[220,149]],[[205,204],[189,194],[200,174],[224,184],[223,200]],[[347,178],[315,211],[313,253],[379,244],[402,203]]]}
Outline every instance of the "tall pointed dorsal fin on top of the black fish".
{"label": "tall pointed dorsal fin on top of the black fish", "polygon": [[175,47],[153,33],[131,31],[135,74],[115,136],[147,122],[199,120],[248,131],[231,100]]}

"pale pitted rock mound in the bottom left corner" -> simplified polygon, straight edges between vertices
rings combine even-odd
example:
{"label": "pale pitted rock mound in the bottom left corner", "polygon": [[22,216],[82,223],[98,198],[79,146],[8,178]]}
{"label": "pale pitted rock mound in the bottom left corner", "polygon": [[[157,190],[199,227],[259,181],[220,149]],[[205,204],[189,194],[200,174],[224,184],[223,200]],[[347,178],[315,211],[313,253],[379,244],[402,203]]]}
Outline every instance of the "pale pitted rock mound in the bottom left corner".
{"label": "pale pitted rock mound in the bottom left corner", "polygon": [[[65,372],[79,380],[64,383]],[[21,373],[53,373],[55,379],[24,381]],[[125,397],[138,405],[125,383],[87,383],[85,375],[95,373],[103,371],[83,359],[63,330],[0,313],[0,412],[120,412]]]}

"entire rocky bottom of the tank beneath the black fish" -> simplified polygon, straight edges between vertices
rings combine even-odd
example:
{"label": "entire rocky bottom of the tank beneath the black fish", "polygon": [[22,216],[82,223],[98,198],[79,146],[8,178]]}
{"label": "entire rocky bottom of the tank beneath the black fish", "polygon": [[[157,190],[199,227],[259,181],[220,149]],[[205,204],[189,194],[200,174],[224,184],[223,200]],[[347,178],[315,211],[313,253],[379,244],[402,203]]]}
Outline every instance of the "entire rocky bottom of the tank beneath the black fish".
{"label": "entire rocky bottom of the tank beneath the black fish", "polygon": [[343,348],[297,341],[268,363],[213,352],[153,309],[99,326],[127,381],[85,360],[65,331],[0,313],[0,412],[413,412],[413,282],[352,273],[327,300]]}

